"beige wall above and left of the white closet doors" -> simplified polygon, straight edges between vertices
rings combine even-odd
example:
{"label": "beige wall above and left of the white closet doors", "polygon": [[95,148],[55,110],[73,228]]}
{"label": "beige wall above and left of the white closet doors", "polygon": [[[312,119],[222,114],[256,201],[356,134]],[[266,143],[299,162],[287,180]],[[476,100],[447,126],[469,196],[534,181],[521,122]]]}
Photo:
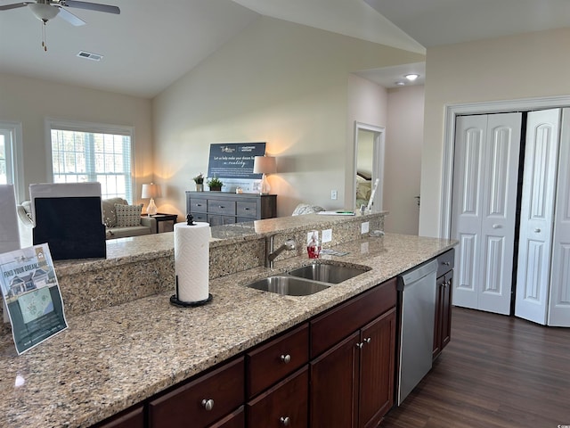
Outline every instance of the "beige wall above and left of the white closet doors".
{"label": "beige wall above and left of the white closet doors", "polygon": [[428,48],[419,235],[440,234],[446,104],[570,94],[570,29]]}

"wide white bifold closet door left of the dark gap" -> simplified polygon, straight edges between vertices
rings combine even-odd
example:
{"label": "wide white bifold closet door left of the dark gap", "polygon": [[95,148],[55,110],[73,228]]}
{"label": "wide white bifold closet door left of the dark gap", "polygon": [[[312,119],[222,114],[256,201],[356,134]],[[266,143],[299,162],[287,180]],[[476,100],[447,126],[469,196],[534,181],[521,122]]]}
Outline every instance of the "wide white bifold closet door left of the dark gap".
{"label": "wide white bifold closet door left of the dark gap", "polygon": [[521,113],[456,124],[452,237],[460,241],[453,304],[509,314]]}

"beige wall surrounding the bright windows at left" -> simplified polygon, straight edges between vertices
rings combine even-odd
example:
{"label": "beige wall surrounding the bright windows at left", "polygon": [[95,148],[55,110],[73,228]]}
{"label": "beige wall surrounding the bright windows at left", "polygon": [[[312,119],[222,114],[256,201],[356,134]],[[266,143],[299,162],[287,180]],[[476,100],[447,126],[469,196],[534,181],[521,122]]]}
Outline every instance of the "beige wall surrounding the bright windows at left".
{"label": "beige wall surrounding the bright windows at left", "polygon": [[134,127],[134,199],[140,196],[140,185],[152,178],[151,100],[0,74],[0,120],[22,125],[24,184],[18,202],[29,199],[28,185],[52,181],[46,118]]}

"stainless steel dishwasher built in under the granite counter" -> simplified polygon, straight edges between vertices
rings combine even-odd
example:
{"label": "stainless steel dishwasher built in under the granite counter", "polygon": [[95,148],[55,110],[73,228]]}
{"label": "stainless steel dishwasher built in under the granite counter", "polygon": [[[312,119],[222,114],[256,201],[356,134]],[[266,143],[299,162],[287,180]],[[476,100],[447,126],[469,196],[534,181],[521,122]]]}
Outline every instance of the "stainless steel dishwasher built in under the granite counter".
{"label": "stainless steel dishwasher built in under the granite counter", "polygon": [[431,369],[436,313],[436,271],[437,261],[432,260],[398,276],[398,406]]}

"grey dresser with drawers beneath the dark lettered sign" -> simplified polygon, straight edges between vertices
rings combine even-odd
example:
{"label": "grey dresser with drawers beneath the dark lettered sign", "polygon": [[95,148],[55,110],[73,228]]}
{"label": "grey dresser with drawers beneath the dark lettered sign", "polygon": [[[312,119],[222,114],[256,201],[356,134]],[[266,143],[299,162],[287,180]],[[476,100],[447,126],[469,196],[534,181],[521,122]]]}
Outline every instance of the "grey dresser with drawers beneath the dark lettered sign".
{"label": "grey dresser with drawers beneath the dark lettered sign", "polygon": [[186,191],[186,213],[221,226],[277,217],[277,195]]}

